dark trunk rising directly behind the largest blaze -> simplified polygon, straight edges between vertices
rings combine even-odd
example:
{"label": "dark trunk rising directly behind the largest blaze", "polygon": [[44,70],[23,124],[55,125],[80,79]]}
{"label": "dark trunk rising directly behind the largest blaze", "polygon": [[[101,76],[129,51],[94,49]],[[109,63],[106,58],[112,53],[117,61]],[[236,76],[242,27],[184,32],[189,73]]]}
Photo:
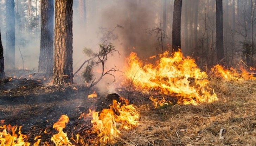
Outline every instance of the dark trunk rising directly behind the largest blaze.
{"label": "dark trunk rising directly behind the largest blaze", "polygon": [[174,0],[173,21],[172,21],[172,49],[178,51],[181,48],[180,22],[181,22],[182,0]]}

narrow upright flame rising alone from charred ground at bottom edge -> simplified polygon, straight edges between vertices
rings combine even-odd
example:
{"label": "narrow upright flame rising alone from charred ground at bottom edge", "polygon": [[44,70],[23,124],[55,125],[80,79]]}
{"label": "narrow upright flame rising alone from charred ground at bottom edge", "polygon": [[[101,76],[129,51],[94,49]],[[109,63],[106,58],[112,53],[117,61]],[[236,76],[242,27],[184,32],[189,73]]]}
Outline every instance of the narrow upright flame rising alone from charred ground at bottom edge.
{"label": "narrow upright flame rising alone from charred ground at bottom edge", "polygon": [[69,122],[69,117],[66,115],[62,115],[58,122],[53,124],[53,128],[55,128],[58,133],[53,134],[51,141],[55,143],[56,146],[74,146],[69,142],[69,138],[67,134],[63,132],[63,128],[66,127],[66,124]]}

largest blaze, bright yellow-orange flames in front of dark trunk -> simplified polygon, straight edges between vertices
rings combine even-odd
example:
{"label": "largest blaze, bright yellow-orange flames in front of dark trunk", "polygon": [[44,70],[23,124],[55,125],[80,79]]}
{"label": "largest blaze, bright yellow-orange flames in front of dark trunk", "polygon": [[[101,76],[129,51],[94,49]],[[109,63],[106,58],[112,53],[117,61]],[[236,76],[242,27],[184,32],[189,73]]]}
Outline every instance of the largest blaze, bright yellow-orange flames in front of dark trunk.
{"label": "largest blaze, bright yellow-orange flames in front of dark trunk", "polygon": [[132,82],[138,91],[172,95],[178,98],[178,104],[198,105],[217,100],[214,90],[207,85],[207,74],[200,71],[194,59],[184,57],[179,50],[171,55],[168,51],[159,54],[155,65],[146,63],[132,52],[127,58],[125,74],[128,83]]}

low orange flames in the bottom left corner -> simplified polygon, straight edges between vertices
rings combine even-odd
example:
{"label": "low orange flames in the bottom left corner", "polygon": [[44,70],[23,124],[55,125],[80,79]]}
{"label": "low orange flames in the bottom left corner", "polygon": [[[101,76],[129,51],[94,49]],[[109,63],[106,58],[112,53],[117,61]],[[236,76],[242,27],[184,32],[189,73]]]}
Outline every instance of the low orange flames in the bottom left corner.
{"label": "low orange flames in the bottom left corner", "polygon": [[15,133],[17,129],[17,126],[0,126],[0,146],[29,146],[30,143],[25,142],[27,135],[21,134],[21,126],[18,134]]}

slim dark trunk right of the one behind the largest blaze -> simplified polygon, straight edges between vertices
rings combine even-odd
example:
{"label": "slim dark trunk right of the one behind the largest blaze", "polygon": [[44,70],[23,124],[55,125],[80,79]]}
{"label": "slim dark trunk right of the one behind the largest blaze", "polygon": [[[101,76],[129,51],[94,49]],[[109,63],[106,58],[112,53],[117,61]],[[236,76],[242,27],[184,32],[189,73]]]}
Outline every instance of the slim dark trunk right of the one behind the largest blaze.
{"label": "slim dark trunk right of the one behind the largest blaze", "polygon": [[216,49],[218,63],[224,64],[222,0],[216,0]]}

